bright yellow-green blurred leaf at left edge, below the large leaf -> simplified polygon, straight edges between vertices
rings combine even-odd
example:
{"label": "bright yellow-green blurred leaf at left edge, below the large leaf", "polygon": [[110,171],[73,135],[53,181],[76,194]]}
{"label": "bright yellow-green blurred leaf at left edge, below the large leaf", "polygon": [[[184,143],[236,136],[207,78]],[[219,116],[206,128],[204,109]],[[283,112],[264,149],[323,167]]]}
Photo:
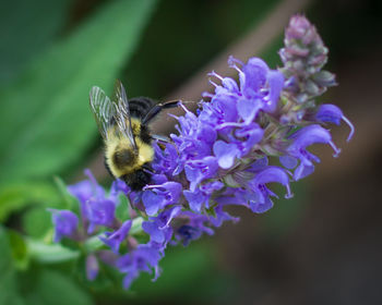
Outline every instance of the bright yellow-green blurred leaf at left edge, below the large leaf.
{"label": "bright yellow-green blurred leaf at left edge, below the large leaf", "polygon": [[0,222],[14,211],[31,204],[53,206],[59,197],[53,185],[47,182],[15,182],[0,187]]}

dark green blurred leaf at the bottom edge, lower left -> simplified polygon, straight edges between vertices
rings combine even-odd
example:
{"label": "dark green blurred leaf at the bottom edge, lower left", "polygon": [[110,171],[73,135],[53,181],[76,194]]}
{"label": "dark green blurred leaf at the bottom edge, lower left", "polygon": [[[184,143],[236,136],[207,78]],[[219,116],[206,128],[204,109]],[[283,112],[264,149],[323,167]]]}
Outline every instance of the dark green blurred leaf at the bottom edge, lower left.
{"label": "dark green blurred leaf at the bottom edge, lower left", "polygon": [[[71,278],[48,269],[33,274],[33,289],[25,293],[27,304],[36,305],[73,305],[93,304],[91,296]],[[26,288],[27,289],[27,288]]]}

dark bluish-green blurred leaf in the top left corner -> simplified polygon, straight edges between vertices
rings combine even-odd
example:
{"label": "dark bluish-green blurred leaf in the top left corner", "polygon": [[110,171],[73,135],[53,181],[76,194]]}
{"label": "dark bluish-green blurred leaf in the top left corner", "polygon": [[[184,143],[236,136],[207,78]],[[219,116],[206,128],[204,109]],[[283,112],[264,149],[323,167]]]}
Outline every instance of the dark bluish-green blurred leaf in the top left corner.
{"label": "dark bluish-green blurred leaf in the top left corner", "polygon": [[[0,84],[17,75],[64,25],[68,0],[12,0],[0,4]],[[22,8],[22,9],[21,9]]]}

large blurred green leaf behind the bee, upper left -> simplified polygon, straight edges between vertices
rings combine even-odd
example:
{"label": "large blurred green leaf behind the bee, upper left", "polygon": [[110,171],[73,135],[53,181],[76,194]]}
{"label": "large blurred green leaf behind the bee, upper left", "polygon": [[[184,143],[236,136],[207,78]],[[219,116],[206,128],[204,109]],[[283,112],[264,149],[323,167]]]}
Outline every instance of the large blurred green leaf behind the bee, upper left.
{"label": "large blurred green leaf behind the bee, upper left", "polygon": [[88,91],[93,85],[112,87],[155,2],[107,2],[0,94],[7,126],[0,181],[46,176],[82,157],[96,135]]}

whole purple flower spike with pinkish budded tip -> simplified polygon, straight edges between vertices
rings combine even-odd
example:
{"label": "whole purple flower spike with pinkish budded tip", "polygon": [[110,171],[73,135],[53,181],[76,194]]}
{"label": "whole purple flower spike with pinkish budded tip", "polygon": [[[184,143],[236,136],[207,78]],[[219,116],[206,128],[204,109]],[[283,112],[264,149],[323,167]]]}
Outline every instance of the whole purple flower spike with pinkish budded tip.
{"label": "whole purple flower spike with pinkish budded tip", "polygon": [[[317,106],[335,77],[322,70],[327,49],[305,16],[290,20],[280,57],[278,70],[259,58],[229,58],[239,82],[212,72],[214,93],[203,95],[196,114],[181,105],[186,114],[177,118],[178,133],[153,144],[155,174],[141,192],[116,181],[106,195],[88,172],[89,180],[69,186],[81,204],[82,225],[71,211],[52,211],[55,241],[98,235],[103,246],[88,254],[89,279],[97,276],[98,260],[124,274],[126,289],[141,271],[155,270],[157,278],[168,244],[188,245],[224,221],[238,220],[225,206],[265,212],[277,197],[270,183],[282,184],[290,198],[290,182],[311,174],[320,161],[309,146],[326,144],[339,154],[325,125],[344,120],[348,139],[354,127],[338,107]],[[130,200],[122,219],[116,216],[120,193]],[[145,241],[136,236],[143,232]]]}

